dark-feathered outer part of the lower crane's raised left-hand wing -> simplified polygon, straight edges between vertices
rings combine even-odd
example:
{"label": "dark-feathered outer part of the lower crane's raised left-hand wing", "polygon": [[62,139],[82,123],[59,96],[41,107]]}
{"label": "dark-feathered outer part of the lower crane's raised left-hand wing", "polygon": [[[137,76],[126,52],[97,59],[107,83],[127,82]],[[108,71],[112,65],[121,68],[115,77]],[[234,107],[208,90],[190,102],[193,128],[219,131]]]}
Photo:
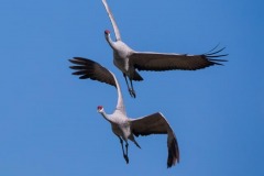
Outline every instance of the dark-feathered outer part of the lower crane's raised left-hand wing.
{"label": "dark-feathered outer part of the lower crane's raised left-hand wing", "polygon": [[74,57],[69,62],[76,64],[69,68],[75,69],[76,72],[73,75],[80,76],[80,79],[90,78],[117,87],[112,73],[100,64],[82,57]]}

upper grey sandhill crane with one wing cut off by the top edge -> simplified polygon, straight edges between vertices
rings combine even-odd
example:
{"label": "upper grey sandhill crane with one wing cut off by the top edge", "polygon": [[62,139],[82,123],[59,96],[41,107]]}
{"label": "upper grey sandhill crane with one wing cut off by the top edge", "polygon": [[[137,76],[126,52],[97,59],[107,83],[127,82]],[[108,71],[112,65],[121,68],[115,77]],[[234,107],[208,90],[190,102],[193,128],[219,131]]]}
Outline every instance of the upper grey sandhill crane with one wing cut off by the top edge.
{"label": "upper grey sandhill crane with one wing cut off by the top edge", "polygon": [[[201,69],[211,65],[222,65],[221,62],[224,59],[216,59],[217,57],[227,56],[227,54],[219,55],[218,53],[224,50],[215,51],[217,47],[208,53],[201,55],[187,55],[187,54],[175,54],[175,53],[154,53],[154,52],[135,52],[129,47],[121,40],[120,31],[113,14],[107,3],[107,0],[102,0],[102,3],[107,10],[110,21],[113,26],[116,34],[116,42],[110,37],[110,31],[105,31],[105,36],[111,48],[113,50],[113,63],[123,73],[129,92],[135,98],[135,91],[133,88],[133,80],[143,80],[138,70],[196,70]],[[130,86],[128,78],[130,79]]]}

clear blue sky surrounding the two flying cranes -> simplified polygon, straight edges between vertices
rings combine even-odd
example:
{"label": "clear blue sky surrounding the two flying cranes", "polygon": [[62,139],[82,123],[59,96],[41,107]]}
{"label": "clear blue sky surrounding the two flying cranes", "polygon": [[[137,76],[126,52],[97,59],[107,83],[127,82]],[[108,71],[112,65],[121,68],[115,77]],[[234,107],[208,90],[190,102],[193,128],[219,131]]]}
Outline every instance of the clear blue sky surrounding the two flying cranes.
{"label": "clear blue sky surrounding the two flying cranes", "polygon": [[[100,0],[0,0],[0,175],[264,175],[264,2],[108,0],[135,51],[202,54],[229,62],[197,72],[141,72],[132,99],[112,64]],[[72,76],[69,58],[95,59],[123,88],[129,117],[163,112],[180,163],[167,169],[165,135],[130,143],[127,165],[110,124],[116,89]]]}

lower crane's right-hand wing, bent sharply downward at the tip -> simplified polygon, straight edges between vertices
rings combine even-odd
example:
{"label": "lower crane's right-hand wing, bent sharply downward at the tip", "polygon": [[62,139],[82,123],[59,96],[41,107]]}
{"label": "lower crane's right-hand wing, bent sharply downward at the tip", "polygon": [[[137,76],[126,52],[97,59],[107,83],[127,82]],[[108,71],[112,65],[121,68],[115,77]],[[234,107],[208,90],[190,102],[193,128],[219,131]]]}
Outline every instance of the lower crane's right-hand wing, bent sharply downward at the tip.
{"label": "lower crane's right-hand wing, bent sharply downward at the tip", "polygon": [[179,148],[177,139],[170,125],[162,113],[156,112],[143,118],[131,119],[131,131],[135,136],[150,134],[167,134],[167,167],[179,162]]}

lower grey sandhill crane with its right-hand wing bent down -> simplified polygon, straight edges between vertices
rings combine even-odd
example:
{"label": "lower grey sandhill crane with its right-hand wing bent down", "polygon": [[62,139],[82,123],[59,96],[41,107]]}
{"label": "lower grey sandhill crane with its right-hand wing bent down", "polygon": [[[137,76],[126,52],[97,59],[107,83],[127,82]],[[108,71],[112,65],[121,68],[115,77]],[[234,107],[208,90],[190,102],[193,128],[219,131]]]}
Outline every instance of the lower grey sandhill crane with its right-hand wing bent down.
{"label": "lower grey sandhill crane with its right-hand wing bent down", "polygon": [[[176,136],[167,120],[161,112],[148,114],[139,119],[128,118],[120,85],[116,76],[110,70],[94,61],[82,57],[74,57],[74,59],[69,59],[69,62],[76,64],[75,66],[70,66],[70,68],[76,70],[73,75],[80,76],[80,79],[90,78],[92,80],[109,84],[117,88],[118,103],[113,113],[106,113],[102,106],[98,106],[98,112],[111,123],[112,132],[120,140],[123,157],[127,164],[129,163],[128,140],[131,140],[138,147],[140,147],[139,143],[134,139],[134,135],[139,136],[148,134],[167,134],[167,167],[172,167],[179,162],[179,150]],[[125,142],[125,151],[123,147],[123,141]]]}

